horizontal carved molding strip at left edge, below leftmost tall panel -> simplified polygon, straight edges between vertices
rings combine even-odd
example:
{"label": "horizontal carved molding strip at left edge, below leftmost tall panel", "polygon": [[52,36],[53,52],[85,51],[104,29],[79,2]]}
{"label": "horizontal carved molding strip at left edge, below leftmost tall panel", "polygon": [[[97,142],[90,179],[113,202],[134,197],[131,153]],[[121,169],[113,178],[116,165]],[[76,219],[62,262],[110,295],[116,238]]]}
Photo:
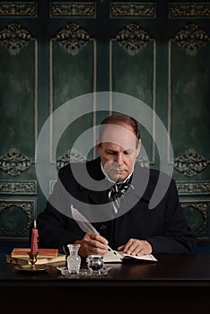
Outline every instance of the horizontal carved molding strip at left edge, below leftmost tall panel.
{"label": "horizontal carved molding strip at left edge, below leftmost tall panel", "polygon": [[0,194],[36,195],[37,181],[3,181],[0,180]]}

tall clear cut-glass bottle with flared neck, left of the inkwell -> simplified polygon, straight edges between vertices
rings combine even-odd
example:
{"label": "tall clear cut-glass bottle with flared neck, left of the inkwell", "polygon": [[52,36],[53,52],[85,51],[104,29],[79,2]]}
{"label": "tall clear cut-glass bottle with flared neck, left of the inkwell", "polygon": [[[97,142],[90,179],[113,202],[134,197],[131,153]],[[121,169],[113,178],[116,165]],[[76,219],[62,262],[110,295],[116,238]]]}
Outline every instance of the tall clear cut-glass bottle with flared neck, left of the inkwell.
{"label": "tall clear cut-glass bottle with flared neck, left of the inkwell", "polygon": [[66,266],[70,274],[79,274],[81,257],[78,255],[80,244],[68,244],[69,255],[66,257]]}

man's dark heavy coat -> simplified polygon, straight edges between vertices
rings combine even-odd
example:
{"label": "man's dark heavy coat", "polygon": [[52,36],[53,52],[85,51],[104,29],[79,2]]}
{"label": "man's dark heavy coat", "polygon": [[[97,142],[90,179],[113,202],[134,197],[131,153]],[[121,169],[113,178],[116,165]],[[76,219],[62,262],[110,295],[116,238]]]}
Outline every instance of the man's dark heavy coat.
{"label": "man's dark heavy coat", "polygon": [[[85,179],[85,173],[91,177]],[[188,228],[175,182],[165,174],[159,183],[158,195],[163,191],[162,199],[150,209],[159,176],[158,170],[136,164],[132,179],[134,189],[127,192],[113,219],[107,190],[109,181],[104,179],[100,159],[72,164],[72,167],[66,165],[59,170],[54,191],[38,216],[39,247],[57,248],[63,252],[64,245],[83,238],[84,232],[71,218],[70,206],[74,205],[101,236],[109,240],[113,249],[133,238],[148,240],[153,254],[193,252],[196,237]],[[169,183],[166,190],[165,181]]]}

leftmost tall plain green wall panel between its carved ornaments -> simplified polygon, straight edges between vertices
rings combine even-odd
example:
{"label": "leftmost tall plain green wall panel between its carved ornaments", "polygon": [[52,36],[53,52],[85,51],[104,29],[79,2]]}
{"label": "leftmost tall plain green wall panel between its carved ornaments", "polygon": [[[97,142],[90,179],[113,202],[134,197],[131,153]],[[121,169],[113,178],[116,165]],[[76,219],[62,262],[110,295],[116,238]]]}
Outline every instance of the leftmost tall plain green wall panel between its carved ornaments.
{"label": "leftmost tall plain green wall panel between its carved ornaments", "polygon": [[0,48],[1,153],[11,147],[32,158],[35,152],[34,45],[30,43],[13,56]]}

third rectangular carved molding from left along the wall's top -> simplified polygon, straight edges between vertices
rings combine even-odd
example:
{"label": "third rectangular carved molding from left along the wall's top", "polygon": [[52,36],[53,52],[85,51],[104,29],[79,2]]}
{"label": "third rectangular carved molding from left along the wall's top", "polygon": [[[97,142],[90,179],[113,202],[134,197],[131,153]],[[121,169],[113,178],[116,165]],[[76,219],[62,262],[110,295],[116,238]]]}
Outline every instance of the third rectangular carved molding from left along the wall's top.
{"label": "third rectangular carved molding from left along the wall's top", "polygon": [[137,2],[120,2],[110,3],[110,18],[121,16],[137,16],[144,18],[156,17],[156,4],[155,3],[137,3]]}

